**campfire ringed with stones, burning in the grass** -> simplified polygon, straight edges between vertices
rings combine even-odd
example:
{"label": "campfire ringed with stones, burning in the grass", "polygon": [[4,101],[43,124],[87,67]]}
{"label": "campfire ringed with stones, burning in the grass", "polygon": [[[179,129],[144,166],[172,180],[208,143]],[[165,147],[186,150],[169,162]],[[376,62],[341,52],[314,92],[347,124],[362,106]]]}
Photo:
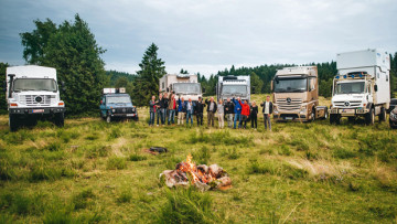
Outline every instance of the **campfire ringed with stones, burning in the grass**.
{"label": "campfire ringed with stones, burning in the grass", "polygon": [[178,163],[175,170],[164,170],[160,173],[160,180],[163,180],[169,188],[193,184],[201,191],[224,190],[232,186],[232,180],[223,168],[217,164],[196,166],[191,154],[186,157],[185,162]]}

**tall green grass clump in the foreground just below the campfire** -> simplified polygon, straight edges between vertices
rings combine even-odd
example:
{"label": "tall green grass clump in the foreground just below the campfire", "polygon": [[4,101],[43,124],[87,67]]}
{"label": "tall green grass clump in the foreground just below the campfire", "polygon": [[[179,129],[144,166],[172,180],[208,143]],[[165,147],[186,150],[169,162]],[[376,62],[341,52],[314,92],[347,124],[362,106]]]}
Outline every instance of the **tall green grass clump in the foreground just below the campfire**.
{"label": "tall green grass clump in the foreground just below the campfire", "polygon": [[217,223],[207,193],[193,188],[167,191],[167,202],[160,209],[158,223]]}

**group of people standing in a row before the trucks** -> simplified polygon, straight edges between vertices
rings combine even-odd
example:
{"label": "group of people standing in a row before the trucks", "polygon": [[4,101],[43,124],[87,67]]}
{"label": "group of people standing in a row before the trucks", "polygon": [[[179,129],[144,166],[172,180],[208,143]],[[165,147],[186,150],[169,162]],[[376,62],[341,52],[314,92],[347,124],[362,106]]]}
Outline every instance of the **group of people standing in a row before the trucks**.
{"label": "group of people standing in a row before the trucks", "polygon": [[[260,104],[262,107],[265,129],[269,128],[271,130],[270,115],[272,114],[272,103],[270,97],[267,96],[266,100]],[[168,93],[159,94],[159,98],[155,99],[155,96],[152,96],[149,102],[149,126],[154,126],[154,118],[157,117],[157,126],[174,125],[175,117],[178,118],[178,125],[183,125],[184,120],[186,126],[193,126],[193,116],[196,117],[197,126],[203,126],[203,113],[206,107],[207,111],[207,127],[215,126],[214,119],[217,116],[219,128],[224,128],[226,117],[227,126],[229,128],[247,128],[247,122],[250,120],[251,128],[257,129],[258,120],[258,106],[256,102],[253,102],[251,105],[247,100],[242,100],[237,98],[227,98],[224,103],[222,99],[216,103],[214,97],[211,97],[210,100],[205,99],[203,102],[202,97],[198,97],[197,102],[192,102],[191,98],[185,100],[183,97],[175,98],[174,94]],[[190,124],[189,124],[190,122]]]}

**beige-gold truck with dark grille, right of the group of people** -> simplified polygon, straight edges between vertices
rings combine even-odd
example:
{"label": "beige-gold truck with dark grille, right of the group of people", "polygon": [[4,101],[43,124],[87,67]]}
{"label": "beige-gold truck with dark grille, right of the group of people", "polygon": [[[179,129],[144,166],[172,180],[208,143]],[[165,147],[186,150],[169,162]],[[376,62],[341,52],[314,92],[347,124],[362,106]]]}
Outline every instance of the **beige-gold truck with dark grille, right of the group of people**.
{"label": "beige-gold truck with dark grille, right of the group of people", "polygon": [[278,70],[271,81],[271,92],[276,121],[328,118],[328,107],[319,106],[316,66]]}

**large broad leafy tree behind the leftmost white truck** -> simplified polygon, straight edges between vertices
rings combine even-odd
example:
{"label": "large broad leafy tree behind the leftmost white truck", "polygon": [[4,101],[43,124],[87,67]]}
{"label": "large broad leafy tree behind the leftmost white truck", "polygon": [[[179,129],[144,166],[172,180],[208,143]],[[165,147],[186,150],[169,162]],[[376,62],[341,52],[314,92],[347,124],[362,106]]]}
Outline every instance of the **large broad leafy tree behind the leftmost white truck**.
{"label": "large broad leafy tree behind the leftmost white truck", "polygon": [[66,84],[61,97],[68,114],[96,113],[108,79],[100,58],[105,50],[96,43],[88,24],[78,14],[73,23],[65,21],[55,30],[51,29],[54,23],[50,19],[35,24],[36,30],[20,34],[26,62],[56,68],[58,83]]}

